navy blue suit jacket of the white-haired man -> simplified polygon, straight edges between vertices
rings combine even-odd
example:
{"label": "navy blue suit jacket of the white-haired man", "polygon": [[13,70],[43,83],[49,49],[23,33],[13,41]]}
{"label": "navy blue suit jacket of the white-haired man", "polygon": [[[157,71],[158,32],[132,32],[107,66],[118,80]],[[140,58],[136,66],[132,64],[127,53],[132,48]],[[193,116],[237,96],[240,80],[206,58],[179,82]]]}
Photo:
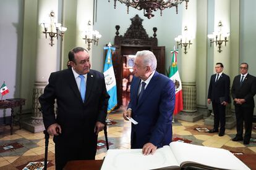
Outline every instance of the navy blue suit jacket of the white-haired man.
{"label": "navy blue suit jacket of the white-haired man", "polygon": [[148,142],[156,147],[169,145],[173,136],[174,83],[168,77],[155,72],[137,103],[139,85],[140,79],[134,76],[128,108],[132,108],[132,118],[139,124],[132,124],[131,144],[135,132],[136,142],[133,146],[135,148],[142,148]]}

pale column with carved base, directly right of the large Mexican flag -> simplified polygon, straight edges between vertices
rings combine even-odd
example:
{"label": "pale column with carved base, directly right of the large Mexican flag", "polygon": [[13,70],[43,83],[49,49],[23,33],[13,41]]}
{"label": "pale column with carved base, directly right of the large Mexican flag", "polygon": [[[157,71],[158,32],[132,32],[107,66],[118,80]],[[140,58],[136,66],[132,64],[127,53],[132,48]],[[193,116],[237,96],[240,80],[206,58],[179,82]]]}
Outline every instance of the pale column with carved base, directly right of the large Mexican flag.
{"label": "pale column with carved base, directly right of the large Mexican flag", "polygon": [[192,45],[187,48],[187,54],[184,48],[179,50],[182,57],[181,62],[181,81],[182,81],[182,98],[183,110],[177,114],[177,119],[194,122],[202,118],[202,114],[197,113],[197,89],[195,83],[195,73],[197,67],[197,1],[189,1],[188,9],[183,9],[182,16],[182,34],[187,26],[187,31],[192,36]]}

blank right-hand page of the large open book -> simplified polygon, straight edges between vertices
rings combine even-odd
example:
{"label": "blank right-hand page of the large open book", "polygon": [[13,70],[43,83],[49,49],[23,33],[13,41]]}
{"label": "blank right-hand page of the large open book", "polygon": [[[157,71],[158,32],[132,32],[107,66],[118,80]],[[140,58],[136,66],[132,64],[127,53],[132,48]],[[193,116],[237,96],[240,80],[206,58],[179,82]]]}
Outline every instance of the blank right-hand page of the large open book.
{"label": "blank right-hand page of the large open book", "polygon": [[180,164],[194,162],[222,169],[249,169],[241,160],[223,148],[204,147],[183,142],[171,142],[170,148]]}

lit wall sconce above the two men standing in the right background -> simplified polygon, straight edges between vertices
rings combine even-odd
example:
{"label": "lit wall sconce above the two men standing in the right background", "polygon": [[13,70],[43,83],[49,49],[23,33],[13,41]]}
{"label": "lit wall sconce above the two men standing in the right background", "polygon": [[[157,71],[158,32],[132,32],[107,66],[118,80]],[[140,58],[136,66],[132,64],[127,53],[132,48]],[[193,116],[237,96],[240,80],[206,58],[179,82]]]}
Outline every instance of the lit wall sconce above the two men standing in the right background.
{"label": "lit wall sconce above the two men standing in the right background", "polygon": [[[218,32],[213,32],[213,34],[208,34],[208,38],[210,39],[210,47],[211,47],[211,44],[213,44],[215,42],[216,46],[218,45],[218,52],[221,52],[221,44],[223,42],[225,42],[225,46],[226,46],[226,43],[228,42],[228,36],[229,36],[229,32],[223,32],[221,30],[222,28],[222,23],[221,21],[218,23]],[[224,39],[223,39],[224,37]],[[214,40],[215,38],[215,40]]]}

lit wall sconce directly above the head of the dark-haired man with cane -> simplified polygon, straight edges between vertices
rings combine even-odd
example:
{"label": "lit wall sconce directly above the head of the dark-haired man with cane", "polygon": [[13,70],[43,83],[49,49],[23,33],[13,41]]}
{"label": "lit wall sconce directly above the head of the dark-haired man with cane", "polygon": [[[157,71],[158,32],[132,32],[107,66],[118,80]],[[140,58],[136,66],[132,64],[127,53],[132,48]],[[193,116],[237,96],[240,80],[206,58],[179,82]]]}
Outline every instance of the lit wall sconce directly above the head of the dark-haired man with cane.
{"label": "lit wall sconce directly above the head of the dark-haired man with cane", "polygon": [[85,30],[85,44],[88,43],[88,47],[87,49],[90,50],[90,45],[91,43],[93,43],[94,45],[96,44],[96,46],[98,46],[98,41],[101,38],[101,34],[99,33],[99,31],[94,31],[92,28],[92,24],[91,21],[88,21],[88,26],[87,29]]}

